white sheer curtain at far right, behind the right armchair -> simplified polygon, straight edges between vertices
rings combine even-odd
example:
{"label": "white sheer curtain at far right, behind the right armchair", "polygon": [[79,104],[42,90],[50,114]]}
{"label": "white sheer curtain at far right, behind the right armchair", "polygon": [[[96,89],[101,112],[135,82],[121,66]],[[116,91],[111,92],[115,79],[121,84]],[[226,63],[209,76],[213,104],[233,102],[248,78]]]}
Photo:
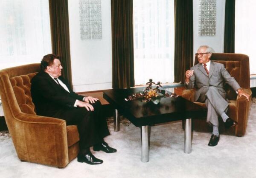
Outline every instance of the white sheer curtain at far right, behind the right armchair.
{"label": "white sheer curtain at far right, behind the right armchair", "polygon": [[250,74],[256,74],[256,0],[236,0],[235,53],[250,58]]}

